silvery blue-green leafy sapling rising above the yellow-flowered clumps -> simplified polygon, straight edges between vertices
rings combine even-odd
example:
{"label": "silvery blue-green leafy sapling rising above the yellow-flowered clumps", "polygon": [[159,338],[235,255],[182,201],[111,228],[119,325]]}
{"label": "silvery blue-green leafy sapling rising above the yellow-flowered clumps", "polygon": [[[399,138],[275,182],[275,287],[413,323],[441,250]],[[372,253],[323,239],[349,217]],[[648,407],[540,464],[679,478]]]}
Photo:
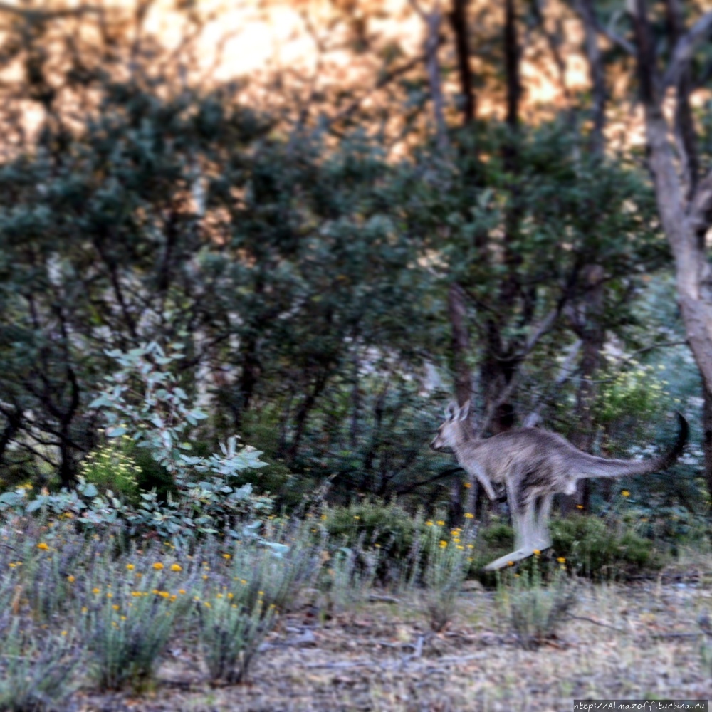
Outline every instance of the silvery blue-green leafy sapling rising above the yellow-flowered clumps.
{"label": "silvery blue-green leafy sapling rising above the yellow-flowered clumps", "polygon": [[[151,342],[128,352],[105,353],[119,368],[106,377],[105,390],[91,407],[103,412],[108,437],[130,438],[166,468],[175,492],[167,501],[160,501],[155,492],[144,492],[137,506],[123,509],[109,501],[101,506],[95,497],[95,506],[84,518],[93,523],[97,513],[113,519],[120,512],[133,533],[152,530],[182,545],[197,534],[218,530],[239,538],[246,523],[272,510],[269,496],[256,496],[250,484],[239,481],[245,471],[266,463],[259,459],[260,451],[241,446],[238,436],[220,443],[220,451],[207,457],[189,454],[193,431],[206,415],[179,385],[177,362],[184,357],[180,345],[164,349]],[[88,498],[88,485],[83,487],[80,491]]]}

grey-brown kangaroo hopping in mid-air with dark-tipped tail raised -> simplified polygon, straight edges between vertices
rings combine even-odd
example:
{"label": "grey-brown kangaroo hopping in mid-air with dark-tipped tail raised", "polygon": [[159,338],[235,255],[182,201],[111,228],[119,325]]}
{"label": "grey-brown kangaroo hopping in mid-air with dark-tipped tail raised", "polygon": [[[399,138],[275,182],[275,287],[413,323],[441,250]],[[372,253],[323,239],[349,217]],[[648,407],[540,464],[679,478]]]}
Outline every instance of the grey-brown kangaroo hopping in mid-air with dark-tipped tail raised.
{"label": "grey-brown kangaroo hopping in mid-air with dark-tipped tail raised", "polygon": [[488,571],[551,546],[548,520],[555,494],[574,494],[577,481],[588,477],[644,475],[669,468],[681,455],[689,434],[686,419],[678,413],[680,431],[668,453],[644,461],[617,460],[589,455],[562,436],[535,428],[480,438],[468,416],[469,403],[461,408],[449,404],[445,422],[430,446],[451,449],[458,464],[481,483],[491,500],[496,499],[493,483],[506,488],[515,551],[488,564]]}

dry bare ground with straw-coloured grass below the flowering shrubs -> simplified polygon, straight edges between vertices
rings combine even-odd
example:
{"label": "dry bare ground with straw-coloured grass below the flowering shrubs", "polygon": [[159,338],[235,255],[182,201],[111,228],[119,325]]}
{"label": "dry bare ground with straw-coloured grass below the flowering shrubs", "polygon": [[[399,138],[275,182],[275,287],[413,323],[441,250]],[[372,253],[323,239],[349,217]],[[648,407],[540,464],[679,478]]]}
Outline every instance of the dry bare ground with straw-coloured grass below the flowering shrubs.
{"label": "dry bare ground with straw-coloured grass below the flowering shrubs", "polygon": [[414,598],[365,602],[329,617],[305,605],[282,617],[248,682],[213,687],[199,658],[175,647],[157,689],[142,697],[79,693],[81,712],[340,712],[567,710],[575,698],[707,699],[712,575],[667,571],[657,581],[587,585],[576,619],[524,651],[492,592],[461,595],[446,630],[429,631]]}

